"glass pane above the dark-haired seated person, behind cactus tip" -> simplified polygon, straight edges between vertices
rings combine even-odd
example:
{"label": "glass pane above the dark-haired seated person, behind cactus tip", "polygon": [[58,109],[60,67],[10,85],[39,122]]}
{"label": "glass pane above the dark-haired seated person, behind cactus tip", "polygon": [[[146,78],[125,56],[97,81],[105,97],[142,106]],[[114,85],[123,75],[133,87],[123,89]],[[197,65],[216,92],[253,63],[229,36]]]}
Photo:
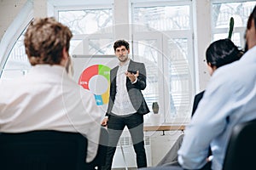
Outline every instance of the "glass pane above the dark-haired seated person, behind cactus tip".
{"label": "glass pane above the dark-haired seated person, behind cactus tip", "polygon": [[249,14],[256,1],[246,3],[214,3],[212,4],[213,28],[229,28],[230,18],[234,18],[234,26],[247,26]]}

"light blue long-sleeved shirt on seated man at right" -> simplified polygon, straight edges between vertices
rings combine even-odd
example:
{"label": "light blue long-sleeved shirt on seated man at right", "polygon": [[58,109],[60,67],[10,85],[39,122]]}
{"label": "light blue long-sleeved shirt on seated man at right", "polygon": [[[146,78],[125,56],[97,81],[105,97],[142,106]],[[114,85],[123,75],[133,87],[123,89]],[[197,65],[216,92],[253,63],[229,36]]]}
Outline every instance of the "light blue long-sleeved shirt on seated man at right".
{"label": "light blue long-sleeved shirt on seated man at right", "polygon": [[212,149],[212,169],[222,169],[232,127],[256,118],[256,47],[212,75],[195,116],[186,127],[178,161],[198,169]]}

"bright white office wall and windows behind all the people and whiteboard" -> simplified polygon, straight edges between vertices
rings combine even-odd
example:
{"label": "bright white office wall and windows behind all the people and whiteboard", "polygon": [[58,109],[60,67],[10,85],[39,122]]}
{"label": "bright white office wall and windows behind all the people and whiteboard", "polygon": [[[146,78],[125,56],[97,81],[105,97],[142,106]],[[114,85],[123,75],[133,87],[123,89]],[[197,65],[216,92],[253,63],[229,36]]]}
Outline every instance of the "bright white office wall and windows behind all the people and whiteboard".
{"label": "bright white office wall and windows behind all the people and whiteboard", "polygon": [[[69,53],[74,77],[78,58],[95,57],[108,65],[113,42],[125,39],[131,45],[131,59],[146,65],[148,86],[143,95],[151,112],[144,116],[145,126],[186,125],[195,94],[210,79],[207,47],[228,37],[233,17],[231,40],[244,48],[247,18],[255,4],[252,0],[2,0],[0,78],[15,81],[26,75],[32,67],[23,44],[26,27],[34,17],[54,16],[73,31]],[[154,102],[159,104],[157,114]],[[148,165],[156,165],[181,133],[145,132]],[[134,156],[125,131],[113,167],[136,167]]]}

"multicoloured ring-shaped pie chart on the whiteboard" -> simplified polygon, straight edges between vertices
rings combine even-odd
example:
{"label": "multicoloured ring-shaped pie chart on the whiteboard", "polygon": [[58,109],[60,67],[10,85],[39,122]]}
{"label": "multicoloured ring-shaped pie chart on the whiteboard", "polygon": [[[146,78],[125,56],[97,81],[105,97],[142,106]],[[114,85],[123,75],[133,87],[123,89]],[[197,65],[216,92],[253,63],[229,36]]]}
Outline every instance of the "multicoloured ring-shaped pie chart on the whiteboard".
{"label": "multicoloured ring-shaped pie chart on the whiteboard", "polygon": [[90,90],[95,96],[96,105],[108,104],[110,68],[106,65],[90,65],[79,77],[79,85]]}

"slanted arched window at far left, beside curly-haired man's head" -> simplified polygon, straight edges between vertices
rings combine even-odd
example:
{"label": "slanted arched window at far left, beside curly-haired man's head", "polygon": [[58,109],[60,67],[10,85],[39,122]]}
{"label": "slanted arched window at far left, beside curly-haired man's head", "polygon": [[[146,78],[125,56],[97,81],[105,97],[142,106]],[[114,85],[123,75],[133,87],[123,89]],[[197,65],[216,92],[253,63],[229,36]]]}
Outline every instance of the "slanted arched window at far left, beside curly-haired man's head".
{"label": "slanted arched window at far left, beside curly-haired man's head", "polygon": [[2,39],[4,43],[1,43],[0,47],[3,54],[0,56],[0,69],[3,69],[1,70],[0,78],[2,79],[21,77],[31,69],[25,54],[23,34],[33,18],[32,7],[33,3],[31,1],[25,3],[20,10],[20,14],[17,15],[6,31],[3,37],[4,40]]}

